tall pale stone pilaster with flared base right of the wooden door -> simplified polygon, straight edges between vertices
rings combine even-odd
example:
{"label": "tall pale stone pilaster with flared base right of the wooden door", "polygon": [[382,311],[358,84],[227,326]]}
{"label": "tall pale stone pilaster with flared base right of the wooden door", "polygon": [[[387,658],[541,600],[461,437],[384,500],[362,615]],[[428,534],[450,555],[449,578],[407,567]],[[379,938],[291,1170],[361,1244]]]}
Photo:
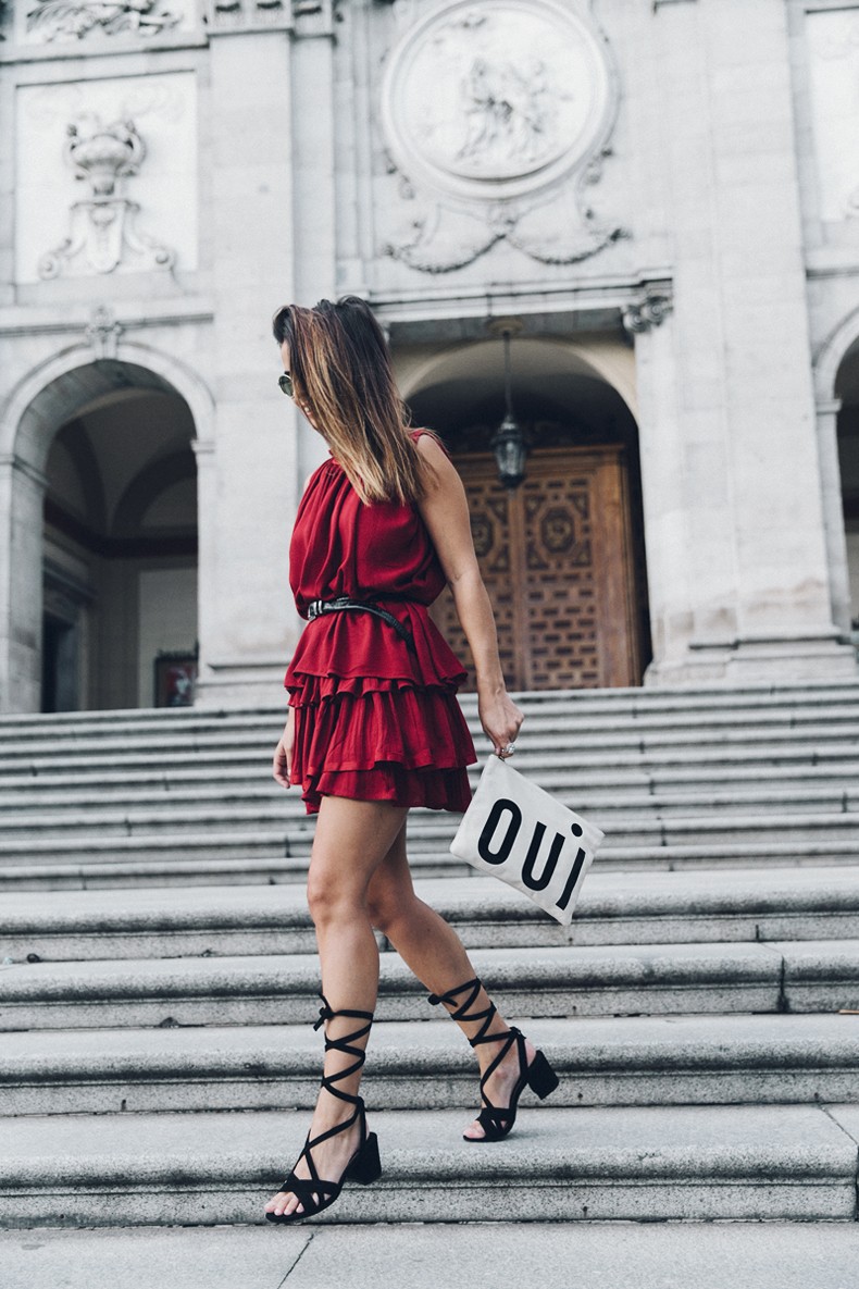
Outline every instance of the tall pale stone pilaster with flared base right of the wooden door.
{"label": "tall pale stone pilaster with flared base right of the wooden door", "polygon": [[699,0],[653,22],[671,121],[657,164],[672,199],[688,608],[670,644],[657,638],[648,679],[855,675],[832,620],[786,8]]}

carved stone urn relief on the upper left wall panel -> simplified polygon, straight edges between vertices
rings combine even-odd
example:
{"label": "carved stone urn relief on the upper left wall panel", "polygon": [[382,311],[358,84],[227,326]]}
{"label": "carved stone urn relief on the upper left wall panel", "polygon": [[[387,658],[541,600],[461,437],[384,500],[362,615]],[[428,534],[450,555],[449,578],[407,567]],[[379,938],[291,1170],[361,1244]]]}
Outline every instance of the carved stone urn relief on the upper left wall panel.
{"label": "carved stone urn relief on the upper left wall panel", "polygon": [[122,193],[127,175],[137,174],[146,144],[134,121],[103,125],[90,115],[68,126],[64,160],[90,195],[71,208],[70,236],[42,255],[40,277],[61,273],[112,273],[120,263],[134,268],[171,268],[174,254],[135,228],[139,206]]}

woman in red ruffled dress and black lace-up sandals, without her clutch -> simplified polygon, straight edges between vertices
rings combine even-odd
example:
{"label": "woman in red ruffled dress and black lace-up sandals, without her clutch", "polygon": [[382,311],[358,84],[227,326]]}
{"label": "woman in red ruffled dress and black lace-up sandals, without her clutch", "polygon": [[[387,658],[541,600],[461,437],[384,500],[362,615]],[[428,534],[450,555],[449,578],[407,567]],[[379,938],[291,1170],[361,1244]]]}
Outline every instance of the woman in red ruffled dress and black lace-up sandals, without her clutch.
{"label": "woman in red ruffled dress and black lace-up sandals, without her clutch", "polygon": [[465,491],[439,441],[410,431],[384,336],[363,300],[287,305],[274,318],[294,397],[331,458],[308,480],[290,581],[310,619],[290,668],[274,777],[301,784],[317,813],[308,901],[322,967],[322,1088],[307,1143],[265,1216],[295,1222],[332,1204],[345,1179],[380,1173],[358,1094],[379,989],[373,927],[443,1003],[475,1048],[483,1110],[471,1142],[513,1128],[529,1084],[558,1080],[509,1029],[458,937],[412,888],[411,806],[464,811],[474,745],[456,700],[465,672],[428,615],[447,581],[474,657],[480,723],[509,757],[522,713],[507,696]]}

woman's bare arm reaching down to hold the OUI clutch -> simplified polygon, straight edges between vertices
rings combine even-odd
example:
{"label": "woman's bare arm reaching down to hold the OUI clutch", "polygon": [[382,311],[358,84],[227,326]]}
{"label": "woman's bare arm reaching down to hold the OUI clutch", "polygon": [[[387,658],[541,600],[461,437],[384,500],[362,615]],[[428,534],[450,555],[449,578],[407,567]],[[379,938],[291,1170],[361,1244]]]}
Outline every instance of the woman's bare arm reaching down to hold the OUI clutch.
{"label": "woman's bare arm reaching down to hold the OUI clutch", "polygon": [[480,724],[496,753],[514,742],[523,714],[507,695],[498,660],[492,605],[480,576],[462,480],[429,434],[417,450],[430,465],[429,486],[419,509],[453,592],[453,603],[471,648],[478,678]]}

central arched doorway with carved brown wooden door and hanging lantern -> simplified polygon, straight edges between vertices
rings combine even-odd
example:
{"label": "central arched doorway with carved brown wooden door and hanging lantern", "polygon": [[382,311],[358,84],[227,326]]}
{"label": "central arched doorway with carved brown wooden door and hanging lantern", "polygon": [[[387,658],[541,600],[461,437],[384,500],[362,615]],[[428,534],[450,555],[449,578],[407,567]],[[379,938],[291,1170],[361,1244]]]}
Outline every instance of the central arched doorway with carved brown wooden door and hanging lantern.
{"label": "central arched doorway with carved brown wooden door and hanging lantern", "polygon": [[[408,394],[416,424],[442,434],[462,476],[507,683],[640,684],[650,651],[635,419],[569,345],[514,339],[511,358],[529,443],[516,490],[501,486],[489,450],[504,412],[497,342],[446,354]],[[437,621],[470,665],[449,597]]]}

